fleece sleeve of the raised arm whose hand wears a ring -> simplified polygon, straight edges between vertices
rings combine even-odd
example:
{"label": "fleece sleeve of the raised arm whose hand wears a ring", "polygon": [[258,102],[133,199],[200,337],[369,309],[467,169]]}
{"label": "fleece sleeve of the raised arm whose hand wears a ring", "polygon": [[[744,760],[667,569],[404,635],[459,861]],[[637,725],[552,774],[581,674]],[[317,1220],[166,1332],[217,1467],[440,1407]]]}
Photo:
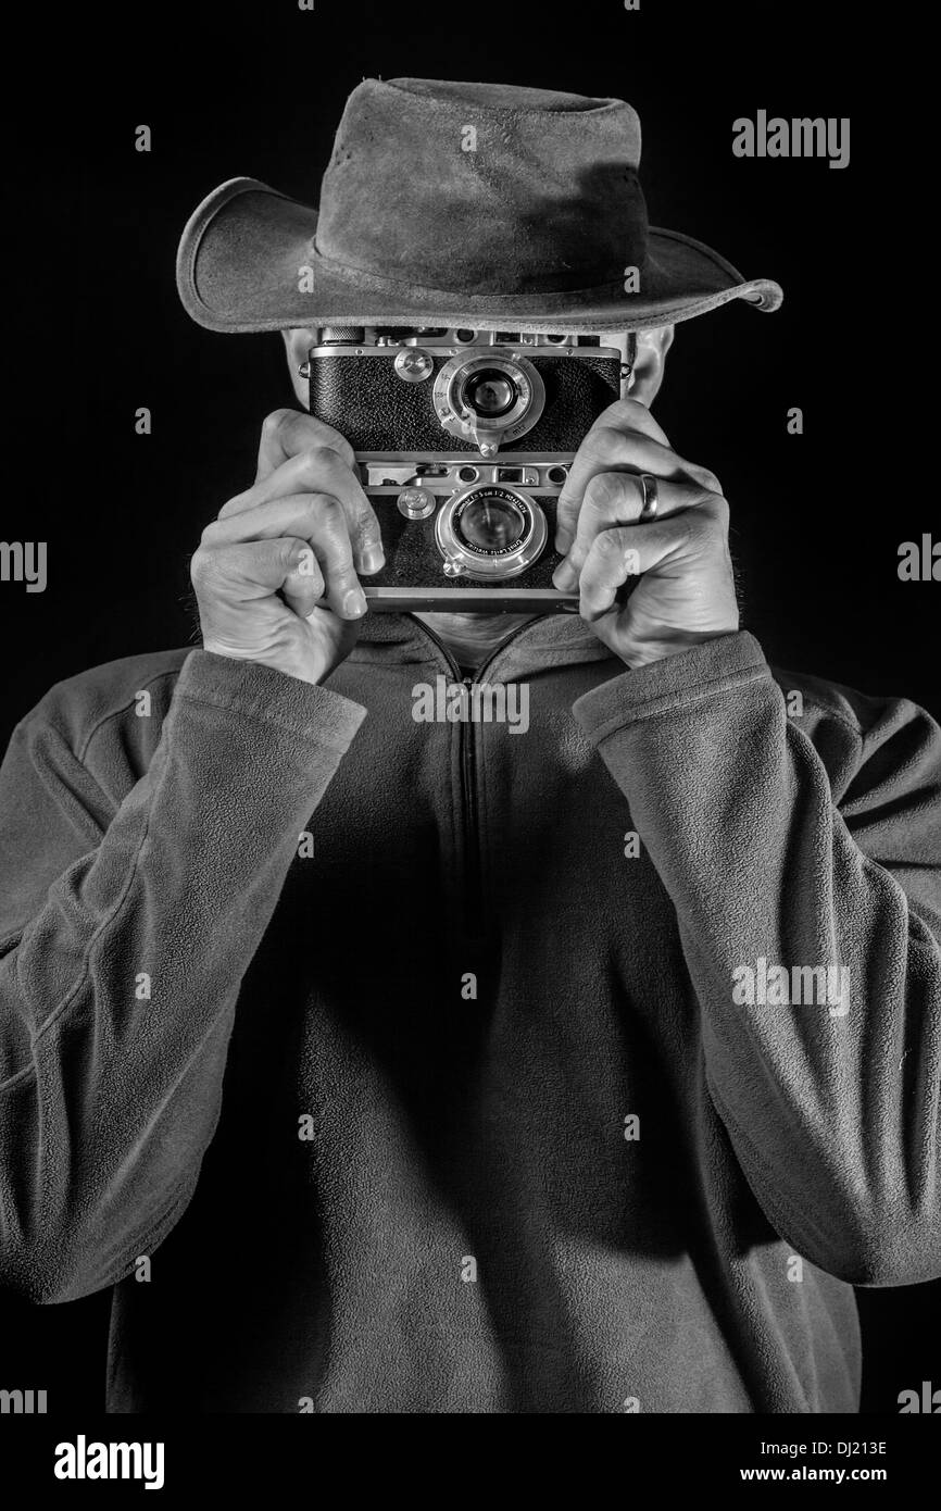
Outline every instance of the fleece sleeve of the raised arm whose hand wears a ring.
{"label": "fleece sleeve of the raised arm whose hand wears a ring", "polygon": [[[675,907],[710,1095],[766,1216],[832,1275],[911,1284],[941,1274],[941,731],[856,707],[814,743],[736,633],[574,712]],[[852,751],[835,787],[828,743]]]}

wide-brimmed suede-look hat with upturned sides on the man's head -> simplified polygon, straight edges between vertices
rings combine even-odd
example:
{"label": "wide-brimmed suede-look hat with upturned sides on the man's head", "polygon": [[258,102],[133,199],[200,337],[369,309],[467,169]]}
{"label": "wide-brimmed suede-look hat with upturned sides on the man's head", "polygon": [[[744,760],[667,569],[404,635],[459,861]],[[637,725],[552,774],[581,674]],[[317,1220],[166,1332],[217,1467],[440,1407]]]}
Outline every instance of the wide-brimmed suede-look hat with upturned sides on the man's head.
{"label": "wide-brimmed suede-look hat with upturned sides on the man's head", "polygon": [[421,325],[637,331],[730,299],[775,310],[702,242],[648,225],[624,100],[366,79],[319,210],[255,178],[196,209],[177,258],[210,331]]}

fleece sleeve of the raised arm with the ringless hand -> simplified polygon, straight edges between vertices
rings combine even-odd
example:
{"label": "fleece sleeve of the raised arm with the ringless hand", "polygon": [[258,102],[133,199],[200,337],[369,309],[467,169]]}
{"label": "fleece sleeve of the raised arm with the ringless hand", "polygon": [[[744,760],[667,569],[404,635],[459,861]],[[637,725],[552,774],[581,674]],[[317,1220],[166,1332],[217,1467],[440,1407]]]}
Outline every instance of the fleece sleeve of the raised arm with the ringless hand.
{"label": "fleece sleeve of the raised arm with the ringless hand", "polygon": [[[44,700],[47,703],[47,700]],[[124,1278],[192,1197],[242,976],[366,710],[186,659],[119,804],[44,704],[0,771],[0,1283]]]}

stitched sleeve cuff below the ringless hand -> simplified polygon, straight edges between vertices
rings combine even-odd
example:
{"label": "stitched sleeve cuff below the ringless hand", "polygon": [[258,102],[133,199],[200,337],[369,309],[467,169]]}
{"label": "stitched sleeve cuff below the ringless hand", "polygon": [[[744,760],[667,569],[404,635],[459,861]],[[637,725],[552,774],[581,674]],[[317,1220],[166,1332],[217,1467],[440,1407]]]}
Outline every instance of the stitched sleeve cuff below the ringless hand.
{"label": "stitched sleeve cuff below the ringless hand", "polygon": [[186,657],[175,697],[275,724],[340,754],[349,748],[366,718],[359,703],[328,688],[288,677],[260,662],[204,650],[193,650]]}

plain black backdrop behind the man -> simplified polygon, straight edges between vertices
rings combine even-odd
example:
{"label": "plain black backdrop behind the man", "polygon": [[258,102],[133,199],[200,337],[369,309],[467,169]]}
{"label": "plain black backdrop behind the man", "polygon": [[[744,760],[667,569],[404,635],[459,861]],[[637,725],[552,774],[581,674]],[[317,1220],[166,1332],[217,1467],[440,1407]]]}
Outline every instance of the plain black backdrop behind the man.
{"label": "plain black backdrop behind the man", "polygon": [[[678,326],[656,406],[674,446],[722,479],[745,623],[778,665],[939,715],[938,589],[897,577],[899,544],[938,533],[915,461],[930,425],[906,388],[923,277],[896,213],[906,103],[885,89],[911,39],[878,17],[870,32],[858,6],[757,0],[42,8],[41,35],[8,54],[23,94],[6,139],[2,535],[48,542],[48,588],[0,588],[3,742],[53,681],[192,638],[187,558],[251,482],[263,416],[292,402],[276,335],[213,335],[183,313],[187,216],[239,174],[316,202],[349,91],[406,74],[639,110],[651,221],[785,290],[773,316],[736,304]],[[733,157],[734,118],[758,109],[850,116],[850,166]],[[134,151],[140,124],[150,154]],[[134,434],[142,405],[150,437]],[[794,405],[801,437],[785,429]],[[98,1407],[107,1299],[3,1302],[0,1386],[44,1387],[50,1410]],[[864,1410],[897,1411],[932,1369],[938,1383],[939,1299],[941,1283],[859,1295]]]}

